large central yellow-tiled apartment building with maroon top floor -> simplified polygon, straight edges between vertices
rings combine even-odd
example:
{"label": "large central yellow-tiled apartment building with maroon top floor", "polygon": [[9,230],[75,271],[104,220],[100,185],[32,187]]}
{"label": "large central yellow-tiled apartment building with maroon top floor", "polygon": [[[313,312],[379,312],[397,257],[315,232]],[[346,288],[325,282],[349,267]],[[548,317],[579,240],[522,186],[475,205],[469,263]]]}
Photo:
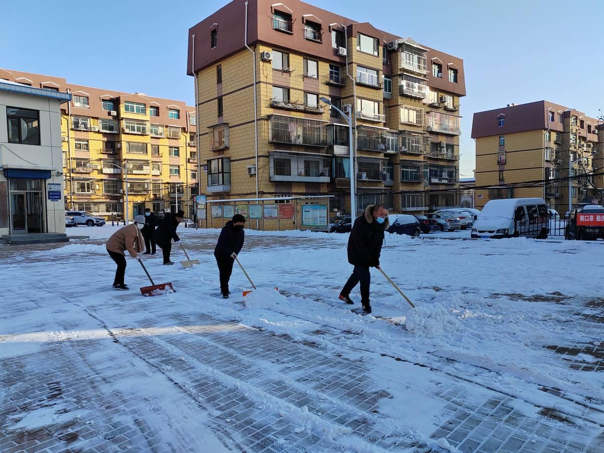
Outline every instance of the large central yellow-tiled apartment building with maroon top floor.
{"label": "large central yellow-tiled apartment building with maroon top floor", "polygon": [[[331,194],[349,212],[352,176],[359,210],[458,205],[461,59],[299,0],[234,0],[189,37],[208,200]],[[323,97],[352,106],[354,175]]]}

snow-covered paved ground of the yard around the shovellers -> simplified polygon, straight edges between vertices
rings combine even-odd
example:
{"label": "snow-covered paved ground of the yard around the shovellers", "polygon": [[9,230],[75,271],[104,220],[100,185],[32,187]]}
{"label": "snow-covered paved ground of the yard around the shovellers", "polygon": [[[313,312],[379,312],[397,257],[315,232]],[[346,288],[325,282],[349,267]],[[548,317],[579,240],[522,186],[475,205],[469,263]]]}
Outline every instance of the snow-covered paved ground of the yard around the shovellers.
{"label": "snow-covered paved ground of the yard around the shovellers", "polygon": [[[602,451],[602,243],[387,235],[382,268],[416,307],[371,269],[373,313],[358,315],[338,301],[352,270],[348,234],[247,231],[240,260],[259,289],[243,298],[251,288],[235,268],[223,300],[212,255],[219,230],[179,228],[201,265],[182,268],[176,247],[175,266],[162,266],[159,249],[145,255],[156,283],[172,281],[176,293],[144,298],[137,288],[149,281],[132,259],[132,289],[111,289],[104,239],[117,228],[71,228],[91,239],[0,249],[11,288],[0,302],[0,382],[15,361],[35,375],[57,357],[96,386],[83,401],[0,416],[0,433],[66,419],[106,425],[108,410],[91,403],[119,391],[128,410],[130,400],[148,401],[123,422],[143,419],[165,451]],[[237,409],[203,399],[199,376],[224,401],[251,402],[254,431]],[[345,393],[346,379],[354,385]],[[302,396],[292,401],[273,385]],[[359,400],[364,393],[373,399]],[[13,397],[0,387],[0,414]],[[281,431],[266,428],[279,423]],[[505,434],[498,445],[496,432]],[[83,448],[97,440],[89,435],[79,437]]]}

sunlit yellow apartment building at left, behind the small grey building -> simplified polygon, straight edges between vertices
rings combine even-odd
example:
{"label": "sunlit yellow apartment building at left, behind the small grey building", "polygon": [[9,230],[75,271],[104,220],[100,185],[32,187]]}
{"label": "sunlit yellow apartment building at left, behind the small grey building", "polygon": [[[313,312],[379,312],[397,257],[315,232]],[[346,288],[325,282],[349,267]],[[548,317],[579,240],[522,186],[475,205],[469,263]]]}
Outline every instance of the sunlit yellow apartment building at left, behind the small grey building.
{"label": "sunlit yellow apartment building at left, behind the small grey building", "polygon": [[72,101],[61,106],[66,209],[123,218],[127,189],[130,219],[145,208],[193,214],[191,197],[198,182],[194,107],[12,69],[0,69],[0,79],[71,92]]}

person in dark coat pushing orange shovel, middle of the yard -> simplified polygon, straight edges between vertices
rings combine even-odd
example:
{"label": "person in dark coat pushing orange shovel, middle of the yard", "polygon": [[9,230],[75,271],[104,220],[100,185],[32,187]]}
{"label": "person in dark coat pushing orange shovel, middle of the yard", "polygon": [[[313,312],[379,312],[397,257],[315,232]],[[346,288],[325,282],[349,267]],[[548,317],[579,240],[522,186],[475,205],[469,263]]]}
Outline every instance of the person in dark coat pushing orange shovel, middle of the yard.
{"label": "person in dark coat pushing orange shovel, middle of the yard", "polygon": [[214,257],[216,257],[220,272],[220,292],[222,292],[222,298],[224,299],[228,299],[230,294],[228,281],[233,272],[233,263],[243,248],[243,241],[245,240],[243,225],[245,225],[245,217],[241,214],[235,214],[233,220],[229,220],[222,227],[218,243],[214,249]]}

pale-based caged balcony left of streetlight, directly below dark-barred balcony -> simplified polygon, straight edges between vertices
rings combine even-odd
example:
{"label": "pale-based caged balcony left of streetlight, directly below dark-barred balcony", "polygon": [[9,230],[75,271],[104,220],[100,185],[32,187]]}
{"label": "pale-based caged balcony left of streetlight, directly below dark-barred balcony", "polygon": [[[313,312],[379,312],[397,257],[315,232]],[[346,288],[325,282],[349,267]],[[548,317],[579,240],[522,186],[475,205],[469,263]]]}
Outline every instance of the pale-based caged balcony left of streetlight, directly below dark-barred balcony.
{"label": "pale-based caged balcony left of streetlight, directly below dark-barred balcony", "polygon": [[269,152],[271,181],[329,182],[331,157],[322,154]]}

